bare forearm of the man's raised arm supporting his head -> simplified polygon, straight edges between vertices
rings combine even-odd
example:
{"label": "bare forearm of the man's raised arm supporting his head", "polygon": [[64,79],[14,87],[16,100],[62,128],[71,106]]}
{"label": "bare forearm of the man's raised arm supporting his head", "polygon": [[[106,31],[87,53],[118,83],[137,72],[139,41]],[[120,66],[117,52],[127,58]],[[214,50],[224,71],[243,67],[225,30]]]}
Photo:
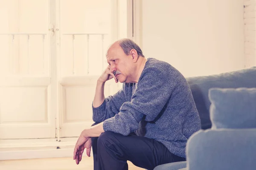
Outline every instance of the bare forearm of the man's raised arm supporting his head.
{"label": "bare forearm of the man's raised arm supporting his head", "polygon": [[100,105],[102,105],[102,103],[105,100],[104,85],[105,85],[105,82],[100,82],[99,80],[97,81],[95,96],[93,99],[93,107],[94,108],[97,108]]}

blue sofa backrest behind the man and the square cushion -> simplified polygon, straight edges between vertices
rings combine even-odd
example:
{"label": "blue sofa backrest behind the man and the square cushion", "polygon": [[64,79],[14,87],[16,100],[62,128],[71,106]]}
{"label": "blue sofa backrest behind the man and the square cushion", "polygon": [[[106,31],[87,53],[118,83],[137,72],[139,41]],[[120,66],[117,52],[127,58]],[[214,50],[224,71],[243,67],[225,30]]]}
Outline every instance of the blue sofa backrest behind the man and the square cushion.
{"label": "blue sofa backrest behind the man and the square cushion", "polygon": [[211,128],[209,116],[210,88],[256,88],[256,67],[232,71],[211,76],[188,77],[186,80],[192,91],[196,107],[201,119],[202,129]]}

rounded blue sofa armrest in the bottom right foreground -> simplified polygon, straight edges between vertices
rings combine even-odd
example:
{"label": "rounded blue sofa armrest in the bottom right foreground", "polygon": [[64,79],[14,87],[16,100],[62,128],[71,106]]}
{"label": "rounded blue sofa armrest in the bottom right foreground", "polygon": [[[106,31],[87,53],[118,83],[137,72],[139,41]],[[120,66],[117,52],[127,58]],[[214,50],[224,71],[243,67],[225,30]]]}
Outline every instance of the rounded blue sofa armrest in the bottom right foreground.
{"label": "rounded blue sofa armrest in the bottom right foreground", "polygon": [[256,128],[199,130],[188,140],[188,170],[255,170]]}

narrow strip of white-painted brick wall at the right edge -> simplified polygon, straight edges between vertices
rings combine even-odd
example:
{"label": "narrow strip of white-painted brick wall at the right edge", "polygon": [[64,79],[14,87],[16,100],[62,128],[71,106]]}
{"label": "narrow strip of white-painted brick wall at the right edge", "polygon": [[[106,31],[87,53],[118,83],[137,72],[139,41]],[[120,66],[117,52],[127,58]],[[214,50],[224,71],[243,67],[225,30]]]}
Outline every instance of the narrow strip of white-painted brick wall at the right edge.
{"label": "narrow strip of white-painted brick wall at the right edge", "polygon": [[256,66],[256,0],[244,0],[244,55],[247,68]]}

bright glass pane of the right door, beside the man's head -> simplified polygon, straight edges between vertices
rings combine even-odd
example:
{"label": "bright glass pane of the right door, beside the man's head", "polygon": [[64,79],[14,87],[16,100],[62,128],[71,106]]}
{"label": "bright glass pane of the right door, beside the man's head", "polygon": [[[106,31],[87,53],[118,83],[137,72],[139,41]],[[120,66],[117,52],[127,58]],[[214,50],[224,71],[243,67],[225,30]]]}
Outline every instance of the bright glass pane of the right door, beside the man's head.
{"label": "bright glass pane of the right door, beside the man's head", "polygon": [[100,75],[106,68],[113,2],[61,0],[61,76]]}

